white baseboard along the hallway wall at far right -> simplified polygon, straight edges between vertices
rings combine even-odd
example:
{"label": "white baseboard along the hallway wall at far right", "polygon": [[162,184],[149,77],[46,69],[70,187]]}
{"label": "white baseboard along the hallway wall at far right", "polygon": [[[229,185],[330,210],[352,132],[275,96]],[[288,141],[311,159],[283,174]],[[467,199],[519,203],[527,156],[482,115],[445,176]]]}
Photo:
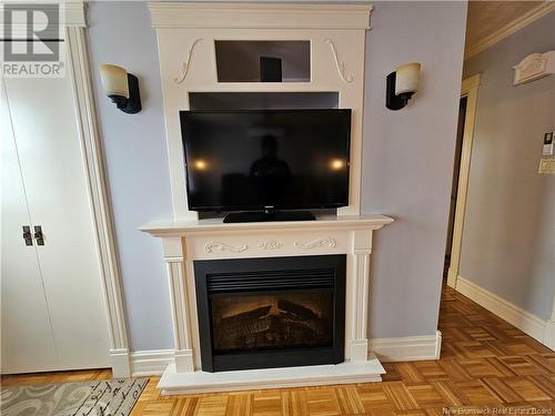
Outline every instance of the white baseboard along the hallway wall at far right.
{"label": "white baseboard along the hallway wall at far right", "polygon": [[[522,307],[516,306],[464,277],[457,276],[455,290],[553,349],[553,341],[549,341],[551,325],[548,325],[548,321],[544,321],[524,311]],[[551,345],[546,344],[546,342],[549,342]]]}

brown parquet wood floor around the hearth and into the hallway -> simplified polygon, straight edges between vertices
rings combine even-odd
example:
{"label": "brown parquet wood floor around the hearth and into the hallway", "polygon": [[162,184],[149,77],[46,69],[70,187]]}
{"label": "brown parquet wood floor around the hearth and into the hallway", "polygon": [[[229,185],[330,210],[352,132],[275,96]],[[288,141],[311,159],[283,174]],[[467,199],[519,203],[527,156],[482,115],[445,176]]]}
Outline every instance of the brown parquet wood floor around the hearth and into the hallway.
{"label": "brown parquet wood floor around the hearth and into the hallway", "polygon": [[[385,364],[383,383],[160,396],[157,377],[132,416],[552,415],[555,353],[445,287],[438,361]],[[2,377],[2,384],[110,377],[109,371]]]}

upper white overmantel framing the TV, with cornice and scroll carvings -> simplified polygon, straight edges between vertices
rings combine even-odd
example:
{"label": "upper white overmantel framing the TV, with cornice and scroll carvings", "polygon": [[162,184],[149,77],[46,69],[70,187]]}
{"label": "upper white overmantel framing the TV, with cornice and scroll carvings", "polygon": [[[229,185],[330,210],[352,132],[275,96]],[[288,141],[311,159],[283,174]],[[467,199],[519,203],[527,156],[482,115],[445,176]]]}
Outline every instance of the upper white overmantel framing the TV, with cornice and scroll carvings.
{"label": "upper white overmantel framing the TV, with cornice and scroll carvings", "polygon": [[[366,30],[372,6],[165,2],[149,3],[157,30],[174,220],[196,220],[189,211],[179,112],[189,93],[337,92],[352,110],[350,204],[339,215],[361,212],[362,121]],[[219,82],[216,40],[306,40],[309,82]]]}

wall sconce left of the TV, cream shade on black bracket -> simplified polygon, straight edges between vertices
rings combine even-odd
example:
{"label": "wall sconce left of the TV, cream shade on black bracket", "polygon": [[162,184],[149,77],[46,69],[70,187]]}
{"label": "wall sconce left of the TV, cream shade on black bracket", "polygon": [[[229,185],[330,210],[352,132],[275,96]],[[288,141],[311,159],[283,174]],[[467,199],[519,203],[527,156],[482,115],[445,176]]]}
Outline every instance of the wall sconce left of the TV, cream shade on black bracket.
{"label": "wall sconce left of the TV, cream shade on black bracket", "polygon": [[104,63],[100,65],[100,78],[104,93],[128,114],[141,111],[139,80],[123,68]]}

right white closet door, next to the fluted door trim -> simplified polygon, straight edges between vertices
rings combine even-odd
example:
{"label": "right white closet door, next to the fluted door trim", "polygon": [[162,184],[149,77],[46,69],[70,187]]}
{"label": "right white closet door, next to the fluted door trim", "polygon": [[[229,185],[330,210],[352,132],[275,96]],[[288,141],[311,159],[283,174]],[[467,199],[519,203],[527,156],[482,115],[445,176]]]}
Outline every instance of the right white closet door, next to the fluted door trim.
{"label": "right white closet door, next to the fluted door trim", "polygon": [[109,339],[71,79],[8,79],[13,136],[59,369],[109,366]]}

